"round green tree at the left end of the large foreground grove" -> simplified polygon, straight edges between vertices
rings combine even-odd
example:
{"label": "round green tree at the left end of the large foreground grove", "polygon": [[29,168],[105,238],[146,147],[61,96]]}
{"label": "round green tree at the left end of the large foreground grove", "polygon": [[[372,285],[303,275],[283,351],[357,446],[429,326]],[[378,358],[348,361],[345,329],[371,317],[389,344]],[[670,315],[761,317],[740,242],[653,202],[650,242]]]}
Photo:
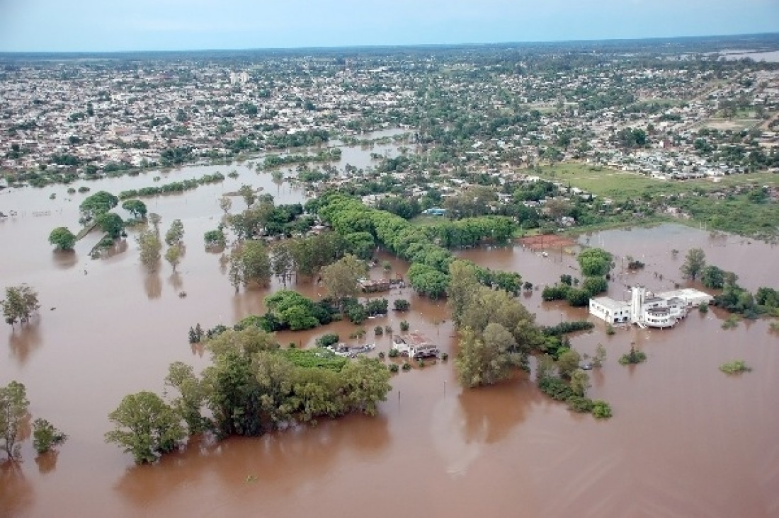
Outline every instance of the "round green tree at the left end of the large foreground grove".
{"label": "round green tree at the left end of the large foreground grove", "polygon": [[176,449],[187,435],[181,416],[153,392],[125,396],[108,419],[115,429],[105,434],[106,441],[132,453],[136,464],[153,463]]}

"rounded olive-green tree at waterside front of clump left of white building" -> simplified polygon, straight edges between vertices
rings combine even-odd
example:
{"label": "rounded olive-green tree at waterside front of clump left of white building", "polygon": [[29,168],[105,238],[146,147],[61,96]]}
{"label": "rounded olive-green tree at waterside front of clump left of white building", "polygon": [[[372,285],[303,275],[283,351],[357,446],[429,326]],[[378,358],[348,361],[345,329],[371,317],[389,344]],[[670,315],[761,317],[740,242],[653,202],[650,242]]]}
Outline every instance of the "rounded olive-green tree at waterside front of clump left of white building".
{"label": "rounded olive-green tree at waterside front of clump left of white building", "polygon": [[519,359],[511,350],[516,346],[511,333],[491,323],[482,337],[469,327],[460,333],[460,353],[455,358],[457,379],[466,387],[492,385],[509,378]]}

